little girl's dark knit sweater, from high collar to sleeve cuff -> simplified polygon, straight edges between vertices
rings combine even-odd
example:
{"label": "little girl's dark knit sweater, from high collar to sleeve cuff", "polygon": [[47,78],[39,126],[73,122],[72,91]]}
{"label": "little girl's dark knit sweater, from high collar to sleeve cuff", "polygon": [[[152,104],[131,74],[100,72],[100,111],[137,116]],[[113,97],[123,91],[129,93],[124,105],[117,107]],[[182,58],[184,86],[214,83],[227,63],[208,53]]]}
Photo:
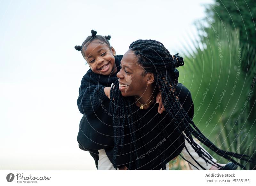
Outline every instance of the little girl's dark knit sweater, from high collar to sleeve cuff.
{"label": "little girl's dark knit sweater, from high collar to sleeve cuff", "polygon": [[82,114],[94,113],[100,108],[100,103],[104,103],[108,100],[104,88],[110,87],[110,85],[118,79],[116,74],[120,70],[120,61],[122,58],[123,55],[115,56],[117,71],[111,76],[95,74],[91,69],[84,75],[79,88],[79,96],[76,101],[78,109]]}

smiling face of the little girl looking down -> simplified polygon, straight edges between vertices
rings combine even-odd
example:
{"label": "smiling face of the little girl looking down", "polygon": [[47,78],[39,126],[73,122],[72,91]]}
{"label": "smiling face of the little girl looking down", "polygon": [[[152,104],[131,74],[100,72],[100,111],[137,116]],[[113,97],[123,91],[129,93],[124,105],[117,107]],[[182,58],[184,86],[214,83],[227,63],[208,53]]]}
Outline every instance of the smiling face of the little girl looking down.
{"label": "smiling face of the little girl looking down", "polygon": [[116,73],[114,56],[116,51],[113,47],[100,41],[93,41],[84,50],[84,59],[87,61],[92,72],[101,75],[112,75]]}

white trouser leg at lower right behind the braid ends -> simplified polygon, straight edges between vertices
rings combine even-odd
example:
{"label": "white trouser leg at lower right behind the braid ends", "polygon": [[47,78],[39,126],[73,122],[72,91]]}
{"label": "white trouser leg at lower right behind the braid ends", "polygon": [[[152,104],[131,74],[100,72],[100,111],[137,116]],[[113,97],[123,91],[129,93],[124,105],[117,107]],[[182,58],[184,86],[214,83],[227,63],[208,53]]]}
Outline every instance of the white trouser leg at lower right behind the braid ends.
{"label": "white trouser leg at lower right behind the braid ends", "polygon": [[[186,134],[183,132],[183,134],[186,136]],[[195,141],[195,140],[194,140]],[[196,143],[196,141],[195,141]],[[197,143],[198,144],[198,143]],[[185,140],[185,145],[189,151],[189,153],[191,154],[191,156],[193,156],[193,158],[202,166],[204,167],[206,170],[209,170],[211,167],[212,167],[212,164],[208,163],[208,165],[206,165],[206,162],[204,161],[203,158],[199,157],[199,155],[196,153],[196,151],[193,149],[193,147],[187,142],[187,140]],[[202,149],[204,149],[200,144],[198,144]],[[195,165],[199,170],[204,170],[202,169],[199,165],[197,165],[197,163],[194,161],[194,159],[191,158],[191,156],[188,154],[188,151],[183,148],[182,150],[182,154],[183,154],[183,157],[188,160],[189,162],[192,163],[192,165]],[[206,151],[204,149],[204,151]],[[207,151],[206,151],[207,152]],[[209,154],[209,153],[208,153]],[[210,155],[211,156],[211,155]],[[211,156],[212,157],[212,156]],[[205,157],[205,159],[208,159],[207,157]],[[212,158],[212,161],[213,162],[217,162],[216,159]],[[190,166],[190,168],[192,170],[198,170],[196,167],[194,166],[191,166],[189,163],[188,165]]]}

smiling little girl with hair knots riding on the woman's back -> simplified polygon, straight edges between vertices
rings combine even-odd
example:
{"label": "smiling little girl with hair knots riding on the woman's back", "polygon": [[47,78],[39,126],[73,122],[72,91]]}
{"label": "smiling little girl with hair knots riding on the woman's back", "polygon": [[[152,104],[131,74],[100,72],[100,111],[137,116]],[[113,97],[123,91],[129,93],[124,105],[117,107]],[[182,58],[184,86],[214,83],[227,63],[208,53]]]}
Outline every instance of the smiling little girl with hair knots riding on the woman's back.
{"label": "smiling little girl with hair knots riding on the woman's back", "polygon": [[108,87],[116,81],[122,55],[110,46],[110,36],[88,36],[82,46],[75,46],[81,51],[90,69],[84,75],[79,88],[77,106],[82,114],[92,114],[108,99]]}

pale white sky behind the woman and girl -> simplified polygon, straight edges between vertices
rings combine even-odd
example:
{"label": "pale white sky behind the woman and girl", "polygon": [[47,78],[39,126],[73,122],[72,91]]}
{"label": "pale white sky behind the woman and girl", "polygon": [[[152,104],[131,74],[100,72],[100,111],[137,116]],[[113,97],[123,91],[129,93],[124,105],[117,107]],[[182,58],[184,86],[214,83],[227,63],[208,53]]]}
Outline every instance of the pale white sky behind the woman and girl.
{"label": "pale white sky behind the woman and girl", "polygon": [[124,54],[154,39],[175,54],[212,0],[0,1],[0,169],[96,170],[78,148],[76,100],[89,67],[74,49],[94,29]]}

